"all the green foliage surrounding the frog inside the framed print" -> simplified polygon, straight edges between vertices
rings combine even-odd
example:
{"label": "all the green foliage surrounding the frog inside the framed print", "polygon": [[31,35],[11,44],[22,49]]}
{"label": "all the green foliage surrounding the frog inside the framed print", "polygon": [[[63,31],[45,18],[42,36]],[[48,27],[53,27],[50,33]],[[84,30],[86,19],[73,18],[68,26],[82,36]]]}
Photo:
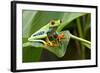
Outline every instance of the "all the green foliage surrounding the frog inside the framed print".
{"label": "all the green foliage surrounding the frog inside the framed print", "polygon": [[[89,13],[82,12],[23,10],[23,62],[45,61],[45,58],[49,61],[48,58],[50,56],[53,56],[52,60],[90,59],[90,16]],[[52,19],[62,20],[62,25],[57,31],[64,32],[65,39],[58,43],[58,47],[28,42],[27,39],[32,33],[39,30]],[[45,50],[47,50],[46,53],[44,53]],[[43,56],[43,54],[48,55],[48,57]]]}

